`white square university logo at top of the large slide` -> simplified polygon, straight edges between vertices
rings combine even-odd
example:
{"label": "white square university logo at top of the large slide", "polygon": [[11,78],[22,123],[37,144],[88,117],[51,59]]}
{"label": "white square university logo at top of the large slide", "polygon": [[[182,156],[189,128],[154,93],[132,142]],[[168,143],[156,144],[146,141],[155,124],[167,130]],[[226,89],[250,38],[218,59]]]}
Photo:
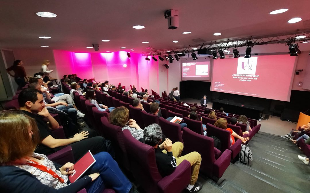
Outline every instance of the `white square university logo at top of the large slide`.
{"label": "white square university logo at top of the large slide", "polygon": [[237,74],[253,74],[256,73],[257,57],[238,58]]}

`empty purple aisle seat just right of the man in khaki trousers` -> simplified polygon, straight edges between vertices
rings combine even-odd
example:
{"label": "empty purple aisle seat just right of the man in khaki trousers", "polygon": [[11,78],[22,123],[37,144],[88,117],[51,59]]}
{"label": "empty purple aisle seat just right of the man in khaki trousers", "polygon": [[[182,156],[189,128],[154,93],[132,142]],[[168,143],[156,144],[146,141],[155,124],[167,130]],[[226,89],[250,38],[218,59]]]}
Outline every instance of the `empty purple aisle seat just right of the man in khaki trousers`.
{"label": "empty purple aisle seat just right of the man in khaki trousers", "polygon": [[[205,174],[209,178],[221,178],[223,176],[230,164],[230,150],[226,149],[220,154],[220,151],[214,147],[212,138],[200,135],[186,127],[183,128],[183,139],[185,143],[183,154],[197,151],[201,155],[200,174]],[[217,152],[216,156],[215,152]]]}

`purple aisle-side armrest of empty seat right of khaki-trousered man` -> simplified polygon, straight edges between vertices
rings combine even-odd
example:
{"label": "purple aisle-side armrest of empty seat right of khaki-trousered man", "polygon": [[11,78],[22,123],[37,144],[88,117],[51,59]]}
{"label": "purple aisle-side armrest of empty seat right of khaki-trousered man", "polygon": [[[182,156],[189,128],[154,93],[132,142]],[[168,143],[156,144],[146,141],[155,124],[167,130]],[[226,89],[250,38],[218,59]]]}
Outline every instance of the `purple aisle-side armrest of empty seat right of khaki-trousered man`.
{"label": "purple aisle-side armrest of empty seat right of khaki-trousered man", "polygon": [[225,170],[228,168],[230,164],[231,151],[226,149],[222,155],[214,162],[213,165],[213,174],[220,178],[223,176]]}

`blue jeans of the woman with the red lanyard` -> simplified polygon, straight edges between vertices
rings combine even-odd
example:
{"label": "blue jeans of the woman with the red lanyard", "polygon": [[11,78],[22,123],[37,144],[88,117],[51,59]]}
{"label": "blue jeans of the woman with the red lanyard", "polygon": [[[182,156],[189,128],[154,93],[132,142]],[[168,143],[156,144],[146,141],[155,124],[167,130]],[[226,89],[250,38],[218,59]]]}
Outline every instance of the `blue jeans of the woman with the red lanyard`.
{"label": "blue jeans of the woman with the red lanyard", "polygon": [[130,191],[131,182],[122,173],[117,162],[113,160],[108,152],[97,153],[94,158],[96,162],[86,171],[86,175],[99,173],[100,176],[86,187],[87,193],[100,193],[106,186],[120,193]]}

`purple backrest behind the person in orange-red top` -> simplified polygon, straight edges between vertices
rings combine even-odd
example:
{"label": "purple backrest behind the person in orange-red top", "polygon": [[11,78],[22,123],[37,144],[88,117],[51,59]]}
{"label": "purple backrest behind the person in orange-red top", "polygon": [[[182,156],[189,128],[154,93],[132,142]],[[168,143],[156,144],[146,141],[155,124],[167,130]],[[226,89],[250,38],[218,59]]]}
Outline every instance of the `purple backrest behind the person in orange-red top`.
{"label": "purple backrest behind the person in orange-red top", "polygon": [[221,149],[219,150],[223,153],[225,149],[228,149],[230,147],[230,132],[226,129],[215,127],[210,123],[208,123],[206,126],[207,136],[216,136],[221,141]]}

